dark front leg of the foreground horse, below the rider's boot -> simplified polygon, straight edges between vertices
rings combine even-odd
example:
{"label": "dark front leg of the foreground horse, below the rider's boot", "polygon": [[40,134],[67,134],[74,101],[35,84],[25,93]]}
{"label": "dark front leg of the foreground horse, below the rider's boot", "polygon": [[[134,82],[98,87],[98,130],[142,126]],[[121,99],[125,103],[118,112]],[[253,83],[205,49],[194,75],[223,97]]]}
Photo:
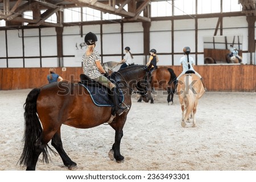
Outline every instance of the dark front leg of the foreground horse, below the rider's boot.
{"label": "dark front leg of the foreground horse, below the rider's boot", "polygon": [[[122,121],[120,121],[120,119]],[[123,125],[125,125],[126,115],[121,116],[119,121],[111,123],[110,126],[115,130],[115,142],[112,146],[112,149],[109,151],[109,158],[112,160],[116,160],[116,162],[121,163],[123,159],[125,159],[120,153],[120,143],[123,137]]]}

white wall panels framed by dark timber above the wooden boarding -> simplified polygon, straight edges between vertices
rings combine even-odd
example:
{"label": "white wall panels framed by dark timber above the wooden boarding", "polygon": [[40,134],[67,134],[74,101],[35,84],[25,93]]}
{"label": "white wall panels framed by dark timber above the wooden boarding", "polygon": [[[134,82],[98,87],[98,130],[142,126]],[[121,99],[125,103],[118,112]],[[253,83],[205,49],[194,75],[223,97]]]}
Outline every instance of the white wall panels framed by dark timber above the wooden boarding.
{"label": "white wall panels framed by dark timber above the wooden boarding", "polygon": [[[204,37],[214,36],[214,31],[218,18],[198,19],[197,32],[197,64],[204,64]],[[157,50],[159,56],[158,65],[180,65],[179,60],[184,46],[190,46],[191,52],[196,50],[195,19],[174,20],[174,40],[172,40],[172,21],[162,20],[151,22],[150,27],[150,49]],[[81,36],[82,28],[82,36]],[[223,36],[240,35],[242,39],[242,50],[248,50],[248,30],[245,16],[224,17]],[[98,37],[96,50],[102,54],[102,61],[121,61],[122,54],[126,46],[131,48],[131,53],[141,54],[134,56],[135,64],[145,64],[148,58],[143,56],[143,26],[141,22],[123,23],[123,40],[121,35],[121,24],[102,24],[103,35],[100,36],[101,26],[86,25],[64,27],[63,30],[63,64],[66,67],[81,66],[81,57],[85,52],[85,46],[80,48],[79,44],[84,43],[84,36],[88,32],[96,33]],[[7,36],[7,55],[5,37]],[[220,36],[218,29],[217,36]],[[41,29],[41,45],[39,41],[39,29],[24,29],[24,39],[22,40],[22,30],[0,31],[0,67],[56,67],[59,65],[57,58],[57,36],[55,28]],[[23,49],[24,41],[24,49]],[[101,50],[102,41],[102,50]],[[172,48],[174,41],[174,48]],[[123,45],[122,45],[123,42]],[[41,49],[40,49],[41,48]],[[172,49],[174,52],[172,53]],[[23,55],[24,51],[24,55]],[[40,55],[41,54],[41,55]],[[120,56],[115,56],[119,54]],[[174,60],[172,60],[174,54]],[[8,56],[8,65],[6,61]],[[24,60],[22,57],[25,57]],[[36,57],[43,56],[42,60]],[[195,54],[191,55],[195,58]],[[250,55],[243,53],[243,63],[250,63]],[[253,59],[254,61],[254,59]]]}

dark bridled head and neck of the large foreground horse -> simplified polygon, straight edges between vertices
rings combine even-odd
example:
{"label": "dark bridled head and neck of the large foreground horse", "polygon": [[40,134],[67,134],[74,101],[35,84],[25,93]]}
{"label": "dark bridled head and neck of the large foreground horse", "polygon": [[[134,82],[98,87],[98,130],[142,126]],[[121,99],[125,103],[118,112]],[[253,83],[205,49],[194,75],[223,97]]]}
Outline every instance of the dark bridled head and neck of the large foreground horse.
{"label": "dark bridled head and neck of the large foreground horse", "polygon": [[127,87],[133,93],[140,94],[145,102],[151,99],[150,69],[150,66],[133,65],[118,71]]}

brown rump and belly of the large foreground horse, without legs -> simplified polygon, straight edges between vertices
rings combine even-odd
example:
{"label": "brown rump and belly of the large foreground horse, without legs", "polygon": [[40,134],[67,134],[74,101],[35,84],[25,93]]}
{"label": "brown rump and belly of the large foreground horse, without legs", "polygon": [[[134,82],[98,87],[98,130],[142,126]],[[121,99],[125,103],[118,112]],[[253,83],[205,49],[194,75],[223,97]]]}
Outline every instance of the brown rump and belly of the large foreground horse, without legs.
{"label": "brown rump and belly of the large foreground horse, without legs", "polygon": [[79,84],[61,83],[43,87],[37,101],[43,128],[92,128],[109,120],[111,107],[98,107]]}

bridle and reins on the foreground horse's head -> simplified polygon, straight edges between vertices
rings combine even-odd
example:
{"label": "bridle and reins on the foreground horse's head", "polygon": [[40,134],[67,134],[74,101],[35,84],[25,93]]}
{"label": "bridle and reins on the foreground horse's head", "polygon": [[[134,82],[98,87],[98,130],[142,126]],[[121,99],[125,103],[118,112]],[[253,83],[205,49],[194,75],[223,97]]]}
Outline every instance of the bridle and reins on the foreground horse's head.
{"label": "bridle and reins on the foreground horse's head", "polygon": [[[150,71],[147,70],[147,68],[146,68],[145,66],[143,67],[143,69],[146,71],[146,74],[144,75],[143,82],[142,82],[141,84],[147,84],[147,85],[148,85],[148,83],[147,83],[147,77],[149,76],[149,78],[151,78],[151,73],[150,73]],[[122,77],[122,79],[125,81],[125,78],[123,78],[123,75],[122,75],[119,71],[117,71],[117,73],[118,73],[118,74]],[[139,82],[140,82],[140,81],[139,81]],[[137,84],[136,84],[137,90],[134,90],[133,88],[131,88],[131,87],[127,84],[126,81],[125,81],[125,86],[131,90],[131,94],[140,94],[140,95],[142,95],[142,96],[148,95],[148,86],[146,87],[146,89],[144,89],[144,88],[139,88],[138,83],[137,83]]]}

